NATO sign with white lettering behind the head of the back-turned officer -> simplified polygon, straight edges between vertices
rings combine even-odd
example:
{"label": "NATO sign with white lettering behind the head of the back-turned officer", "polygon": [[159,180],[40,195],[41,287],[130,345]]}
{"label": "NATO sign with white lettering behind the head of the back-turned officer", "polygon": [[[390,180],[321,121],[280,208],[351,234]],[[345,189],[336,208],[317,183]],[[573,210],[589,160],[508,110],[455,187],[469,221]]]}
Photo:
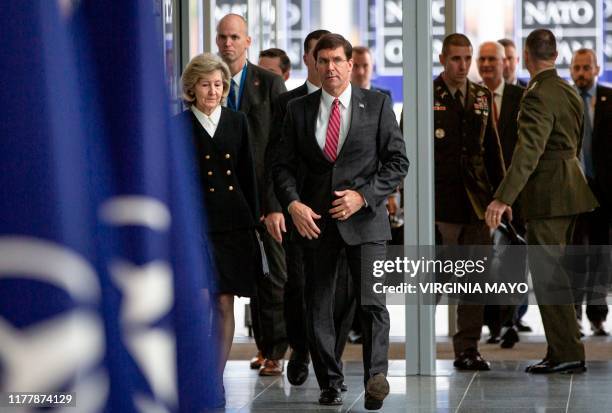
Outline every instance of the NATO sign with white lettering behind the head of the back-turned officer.
{"label": "NATO sign with white lettering behind the head of the back-turned officer", "polygon": [[[523,0],[517,6],[521,24],[522,49],[527,36],[535,29],[549,29],[557,38],[557,69],[561,76],[569,76],[573,53],[583,47],[594,49],[602,61],[604,0]],[[522,75],[528,75],[523,67]]]}

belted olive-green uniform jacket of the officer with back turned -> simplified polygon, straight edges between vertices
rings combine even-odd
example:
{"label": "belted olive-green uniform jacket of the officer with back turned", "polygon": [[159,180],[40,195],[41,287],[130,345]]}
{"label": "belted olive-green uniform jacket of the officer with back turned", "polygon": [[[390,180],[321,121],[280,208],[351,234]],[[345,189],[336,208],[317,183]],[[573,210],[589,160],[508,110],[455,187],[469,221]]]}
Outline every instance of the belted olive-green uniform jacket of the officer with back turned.
{"label": "belted olive-green uniform jacket of the officer with back turned", "polygon": [[577,158],[583,114],[582,99],[556,70],[534,76],[521,101],[512,163],[495,198],[508,205],[519,198],[527,220],[595,208]]}

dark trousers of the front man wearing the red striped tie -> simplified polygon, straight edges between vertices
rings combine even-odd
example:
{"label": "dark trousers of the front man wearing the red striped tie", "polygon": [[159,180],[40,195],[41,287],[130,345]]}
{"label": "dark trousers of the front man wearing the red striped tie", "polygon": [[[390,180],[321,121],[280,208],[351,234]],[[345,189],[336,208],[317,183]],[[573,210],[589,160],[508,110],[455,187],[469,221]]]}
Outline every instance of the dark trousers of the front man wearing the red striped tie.
{"label": "dark trousers of the front man wearing the red striped tie", "polygon": [[372,268],[371,263],[374,260],[384,260],[385,242],[349,246],[342,240],[336,224],[332,223],[326,226],[315,248],[304,249],[308,341],[321,389],[333,387],[339,390],[344,381],[342,364],[337,353],[340,345],[344,345],[340,342],[346,342],[346,336],[340,337],[342,333],[336,330],[335,319],[337,263],[342,250],[346,253],[357,306],[361,310],[364,383],[374,374],[386,375],[388,370],[389,313],[384,296],[371,297],[368,305],[361,302],[361,278],[372,276],[371,273],[361,274],[362,264],[365,268]]}

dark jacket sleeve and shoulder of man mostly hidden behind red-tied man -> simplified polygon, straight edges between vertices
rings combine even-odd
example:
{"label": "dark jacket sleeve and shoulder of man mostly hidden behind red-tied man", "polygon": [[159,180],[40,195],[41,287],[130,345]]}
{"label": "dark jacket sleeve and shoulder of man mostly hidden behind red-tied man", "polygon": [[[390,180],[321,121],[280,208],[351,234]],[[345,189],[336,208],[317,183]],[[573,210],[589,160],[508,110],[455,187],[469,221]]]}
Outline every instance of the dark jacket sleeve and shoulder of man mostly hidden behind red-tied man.
{"label": "dark jacket sleeve and shoulder of man mostly hidden behind red-tied man", "polygon": [[278,150],[278,143],[281,136],[281,129],[283,125],[283,121],[285,119],[285,114],[287,113],[287,104],[296,98],[306,96],[308,94],[308,86],[306,86],[306,82],[303,85],[290,90],[288,92],[282,93],[276,99],[274,103],[274,114],[272,125],[274,127],[270,130],[270,139],[268,141],[268,147],[266,148],[266,191],[270,191],[267,193],[267,196],[264,198],[264,213],[267,215],[271,212],[283,212],[283,208],[278,202],[276,195],[274,195],[274,182],[272,181],[272,163],[277,156],[275,151]]}

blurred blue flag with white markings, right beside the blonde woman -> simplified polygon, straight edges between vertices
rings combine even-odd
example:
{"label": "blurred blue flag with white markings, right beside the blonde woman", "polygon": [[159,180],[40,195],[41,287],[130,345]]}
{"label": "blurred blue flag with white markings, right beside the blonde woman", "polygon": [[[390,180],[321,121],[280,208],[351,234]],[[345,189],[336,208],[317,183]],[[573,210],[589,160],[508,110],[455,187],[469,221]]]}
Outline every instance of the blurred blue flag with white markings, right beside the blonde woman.
{"label": "blurred blue flag with white markings, right beside the blonde woman", "polygon": [[171,127],[153,11],[148,0],[82,0],[70,20],[92,90],[84,99],[100,123],[92,134],[102,131],[107,159],[98,210],[111,233],[106,254],[121,308],[112,336],[127,350],[118,343],[108,354],[110,374],[121,383],[128,366],[134,378],[127,393],[111,388],[121,410],[110,410],[196,412],[215,405],[221,389],[211,373],[211,272],[195,161],[190,140]]}

